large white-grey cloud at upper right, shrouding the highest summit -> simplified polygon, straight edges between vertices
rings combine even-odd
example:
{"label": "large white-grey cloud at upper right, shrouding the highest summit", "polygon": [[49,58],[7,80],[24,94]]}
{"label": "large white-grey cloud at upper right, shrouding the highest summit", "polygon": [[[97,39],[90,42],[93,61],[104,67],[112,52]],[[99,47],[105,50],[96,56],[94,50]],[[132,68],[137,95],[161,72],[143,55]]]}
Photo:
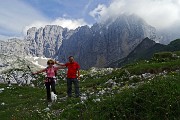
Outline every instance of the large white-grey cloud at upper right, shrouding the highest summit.
{"label": "large white-grey cloud at upper right, shrouding the highest summit", "polygon": [[121,14],[137,14],[159,29],[167,28],[180,20],[179,0],[113,0],[109,6],[99,5],[89,14],[104,21]]}

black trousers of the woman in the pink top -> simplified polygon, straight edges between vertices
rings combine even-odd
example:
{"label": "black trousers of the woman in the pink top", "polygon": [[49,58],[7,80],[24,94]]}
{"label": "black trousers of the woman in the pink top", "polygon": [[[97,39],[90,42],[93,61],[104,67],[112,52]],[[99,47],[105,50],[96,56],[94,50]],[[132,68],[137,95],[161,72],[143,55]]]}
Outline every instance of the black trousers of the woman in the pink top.
{"label": "black trousers of the woman in the pink top", "polygon": [[[46,78],[45,86],[46,86],[46,93],[47,93],[47,100],[51,101],[51,90],[56,94],[55,90],[55,80],[54,78]],[[50,89],[51,88],[51,89]]]}

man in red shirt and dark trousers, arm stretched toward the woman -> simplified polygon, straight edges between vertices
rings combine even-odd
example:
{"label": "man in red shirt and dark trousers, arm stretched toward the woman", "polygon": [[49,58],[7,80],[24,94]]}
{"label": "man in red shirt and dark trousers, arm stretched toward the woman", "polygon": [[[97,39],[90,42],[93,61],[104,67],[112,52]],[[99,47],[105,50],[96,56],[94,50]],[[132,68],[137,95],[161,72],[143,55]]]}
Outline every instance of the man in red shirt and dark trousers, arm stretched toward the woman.
{"label": "man in red shirt and dark trousers, arm stretched toward the woman", "polygon": [[78,81],[80,79],[79,64],[74,61],[73,56],[69,57],[69,62],[66,64],[60,64],[57,62],[56,62],[56,64],[65,66],[68,68],[68,71],[67,71],[67,94],[68,94],[68,97],[72,96],[72,83],[74,84],[76,97],[79,97],[79,95],[80,95],[79,81]]}

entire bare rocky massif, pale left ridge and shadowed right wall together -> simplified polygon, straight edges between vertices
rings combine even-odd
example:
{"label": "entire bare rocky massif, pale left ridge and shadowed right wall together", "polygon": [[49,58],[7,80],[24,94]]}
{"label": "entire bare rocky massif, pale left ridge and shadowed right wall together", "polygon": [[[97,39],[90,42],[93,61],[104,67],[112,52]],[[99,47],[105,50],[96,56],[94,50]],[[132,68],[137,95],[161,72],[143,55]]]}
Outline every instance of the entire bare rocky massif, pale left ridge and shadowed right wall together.
{"label": "entire bare rocky massif, pale left ridge and shadowed right wall together", "polygon": [[0,53],[43,56],[60,62],[74,56],[82,69],[104,67],[126,57],[144,38],[156,39],[155,32],[155,28],[135,15],[122,15],[75,30],[47,25],[30,28],[24,40],[0,42]]}

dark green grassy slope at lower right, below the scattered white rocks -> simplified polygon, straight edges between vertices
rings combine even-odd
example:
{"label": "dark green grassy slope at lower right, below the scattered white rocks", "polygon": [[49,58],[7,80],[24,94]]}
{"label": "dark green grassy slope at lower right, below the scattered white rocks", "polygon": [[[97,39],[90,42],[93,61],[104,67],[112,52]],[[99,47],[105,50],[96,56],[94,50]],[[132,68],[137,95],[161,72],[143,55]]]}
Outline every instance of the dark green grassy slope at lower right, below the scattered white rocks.
{"label": "dark green grassy slope at lower right, below the scattered white rocks", "polygon": [[158,77],[137,89],[125,89],[121,94],[101,102],[87,101],[65,111],[61,118],[162,120],[180,118],[180,75]]}

